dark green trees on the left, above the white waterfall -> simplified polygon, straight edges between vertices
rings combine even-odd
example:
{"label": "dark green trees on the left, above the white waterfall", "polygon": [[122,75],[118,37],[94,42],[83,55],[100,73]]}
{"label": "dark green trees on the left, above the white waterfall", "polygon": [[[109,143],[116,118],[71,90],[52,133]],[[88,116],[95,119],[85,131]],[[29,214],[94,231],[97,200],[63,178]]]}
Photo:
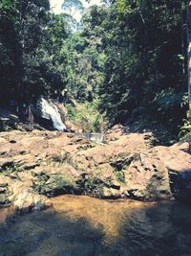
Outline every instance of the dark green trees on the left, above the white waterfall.
{"label": "dark green trees on the left, above the white waterfall", "polygon": [[64,21],[49,13],[48,0],[3,1],[0,4],[0,100],[35,101],[63,88],[59,49]]}

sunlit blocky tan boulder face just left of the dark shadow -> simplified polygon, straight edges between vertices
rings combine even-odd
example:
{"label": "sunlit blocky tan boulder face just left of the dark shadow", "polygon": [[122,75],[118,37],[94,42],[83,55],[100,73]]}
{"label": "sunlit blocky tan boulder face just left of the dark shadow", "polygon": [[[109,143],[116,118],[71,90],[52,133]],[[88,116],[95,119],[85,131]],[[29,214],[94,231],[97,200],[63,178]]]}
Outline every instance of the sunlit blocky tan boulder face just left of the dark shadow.
{"label": "sunlit blocky tan boulder face just left of the dark shadow", "polygon": [[139,200],[172,198],[168,170],[152,152],[136,155],[125,170],[125,183],[129,198]]}

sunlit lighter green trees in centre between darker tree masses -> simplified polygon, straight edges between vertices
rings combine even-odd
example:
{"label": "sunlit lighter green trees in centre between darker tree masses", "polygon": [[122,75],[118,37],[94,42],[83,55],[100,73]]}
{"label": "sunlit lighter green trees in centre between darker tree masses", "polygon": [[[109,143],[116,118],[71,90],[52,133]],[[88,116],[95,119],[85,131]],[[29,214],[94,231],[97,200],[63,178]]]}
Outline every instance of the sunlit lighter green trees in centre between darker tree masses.
{"label": "sunlit lighter green trees in centre between darker tree masses", "polygon": [[93,102],[98,97],[99,86],[103,82],[106,58],[101,42],[103,31],[93,20],[97,19],[101,23],[104,12],[100,12],[98,16],[96,8],[93,7],[91,12],[83,16],[83,30],[65,41],[68,60],[66,86],[71,97],[78,102]]}

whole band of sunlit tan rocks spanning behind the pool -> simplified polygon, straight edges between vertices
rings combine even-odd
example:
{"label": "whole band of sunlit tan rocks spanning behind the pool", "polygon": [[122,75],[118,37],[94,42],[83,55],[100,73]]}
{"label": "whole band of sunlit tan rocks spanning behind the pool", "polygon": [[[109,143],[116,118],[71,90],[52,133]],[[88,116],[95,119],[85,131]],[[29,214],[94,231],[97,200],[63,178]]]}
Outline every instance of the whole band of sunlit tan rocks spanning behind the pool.
{"label": "whole band of sunlit tan rocks spanning behind the pool", "polygon": [[74,133],[0,133],[0,206],[43,209],[58,195],[191,200],[188,143],[153,146],[152,133],[115,127],[96,144]]}

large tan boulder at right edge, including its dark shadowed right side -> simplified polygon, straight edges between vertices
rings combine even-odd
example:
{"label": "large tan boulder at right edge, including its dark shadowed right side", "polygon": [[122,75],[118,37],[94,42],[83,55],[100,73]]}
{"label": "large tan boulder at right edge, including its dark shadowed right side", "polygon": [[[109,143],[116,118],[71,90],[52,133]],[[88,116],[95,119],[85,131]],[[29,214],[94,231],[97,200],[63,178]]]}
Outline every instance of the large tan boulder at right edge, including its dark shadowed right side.
{"label": "large tan boulder at right edge, including its dark shadowed right side", "polygon": [[188,143],[158,146],[136,156],[125,171],[130,198],[176,198],[191,202],[191,155]]}

